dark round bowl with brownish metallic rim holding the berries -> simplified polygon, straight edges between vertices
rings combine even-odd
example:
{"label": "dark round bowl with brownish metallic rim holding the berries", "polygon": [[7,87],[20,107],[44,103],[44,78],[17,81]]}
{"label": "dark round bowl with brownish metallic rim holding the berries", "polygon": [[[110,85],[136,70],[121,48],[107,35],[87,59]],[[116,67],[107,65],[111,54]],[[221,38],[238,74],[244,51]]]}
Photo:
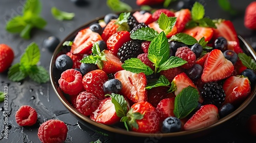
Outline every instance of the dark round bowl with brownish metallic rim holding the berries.
{"label": "dark round bowl with brownish metallic rim holding the berries", "polygon": [[[92,129],[95,132],[101,133],[105,136],[109,136],[110,138],[113,138],[113,142],[118,142],[117,140],[126,140],[126,141],[143,141],[143,142],[148,142],[148,141],[166,141],[171,139],[172,141],[174,140],[182,140],[182,139],[187,139],[187,138],[193,138],[193,137],[198,137],[202,136],[205,134],[210,133],[211,131],[218,129],[217,127],[222,127],[225,122],[229,121],[231,118],[239,114],[254,98],[256,88],[254,85],[251,85],[251,92],[247,99],[232,113],[229,115],[221,118],[217,123],[214,125],[211,125],[206,128],[198,129],[198,130],[192,130],[192,131],[181,131],[181,132],[175,132],[175,133],[155,133],[155,134],[148,134],[148,133],[138,133],[138,132],[133,132],[133,131],[126,131],[124,128],[120,128],[120,126],[108,126],[108,125],[103,125],[99,124],[97,122],[94,122],[90,120],[88,116],[85,116],[81,114],[79,111],[77,111],[70,102],[69,95],[63,93],[59,87],[58,84],[58,79],[60,78],[60,72],[55,66],[55,60],[58,57],[58,55],[67,53],[70,51],[70,49],[67,46],[62,46],[62,43],[65,41],[72,41],[76,34],[81,30],[84,29],[88,26],[90,26],[92,23],[98,22],[99,19],[101,18],[96,18],[74,32],[72,32],[70,35],[68,35],[56,48],[56,50],[53,53],[52,59],[51,59],[51,65],[50,65],[50,80],[51,84],[53,86],[54,91],[56,92],[59,100],[63,103],[63,105],[70,111],[71,114],[73,114],[79,123],[81,124],[81,127],[89,128]],[[253,59],[256,60],[256,54],[252,50],[251,46],[240,36],[238,36],[239,39],[241,40],[241,47],[244,50],[244,52],[251,56]]]}

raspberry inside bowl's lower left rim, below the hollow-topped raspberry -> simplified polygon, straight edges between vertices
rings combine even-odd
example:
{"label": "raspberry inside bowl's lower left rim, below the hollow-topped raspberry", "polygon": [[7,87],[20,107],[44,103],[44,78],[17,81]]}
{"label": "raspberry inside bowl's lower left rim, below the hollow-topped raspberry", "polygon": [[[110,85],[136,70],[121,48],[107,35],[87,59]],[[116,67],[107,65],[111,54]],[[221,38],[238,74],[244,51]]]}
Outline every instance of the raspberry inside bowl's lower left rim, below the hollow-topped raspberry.
{"label": "raspberry inside bowl's lower left rim, below the hollow-topped raspberry", "polygon": [[99,99],[87,91],[81,92],[76,99],[76,109],[84,115],[90,115],[99,106]]}

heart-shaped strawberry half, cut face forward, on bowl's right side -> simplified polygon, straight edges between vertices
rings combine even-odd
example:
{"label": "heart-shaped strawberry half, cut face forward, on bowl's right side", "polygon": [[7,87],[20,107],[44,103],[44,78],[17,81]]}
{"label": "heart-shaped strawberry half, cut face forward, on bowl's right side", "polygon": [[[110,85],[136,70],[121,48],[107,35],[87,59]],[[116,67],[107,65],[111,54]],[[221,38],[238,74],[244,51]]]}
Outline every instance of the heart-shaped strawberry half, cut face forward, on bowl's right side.
{"label": "heart-shaped strawberry half, cut face forward, on bowl's right side", "polygon": [[222,80],[229,77],[233,70],[232,62],[227,60],[220,50],[215,49],[205,60],[201,79],[203,82]]}

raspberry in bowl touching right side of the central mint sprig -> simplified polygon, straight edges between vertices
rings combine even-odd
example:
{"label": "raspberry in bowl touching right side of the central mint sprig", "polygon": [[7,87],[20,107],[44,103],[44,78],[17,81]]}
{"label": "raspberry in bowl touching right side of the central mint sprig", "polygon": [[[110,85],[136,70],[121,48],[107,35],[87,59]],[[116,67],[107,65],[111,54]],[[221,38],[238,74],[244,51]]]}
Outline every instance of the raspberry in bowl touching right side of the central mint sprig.
{"label": "raspberry in bowl touching right side of the central mint sprig", "polygon": [[197,60],[196,54],[193,51],[191,51],[187,46],[179,47],[175,53],[175,56],[187,61],[187,63],[181,66],[185,69],[189,69],[193,65],[195,65]]}

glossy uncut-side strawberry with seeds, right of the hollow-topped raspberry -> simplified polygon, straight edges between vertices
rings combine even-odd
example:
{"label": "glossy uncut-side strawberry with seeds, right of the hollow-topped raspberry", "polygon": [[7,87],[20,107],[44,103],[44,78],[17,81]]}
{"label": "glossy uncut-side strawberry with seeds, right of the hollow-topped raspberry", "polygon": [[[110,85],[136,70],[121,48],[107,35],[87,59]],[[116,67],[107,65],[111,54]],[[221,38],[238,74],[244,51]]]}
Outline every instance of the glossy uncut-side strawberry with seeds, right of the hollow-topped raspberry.
{"label": "glossy uncut-side strawberry with seeds, right of the hollow-topped raspberry", "polygon": [[102,100],[105,96],[103,84],[108,79],[108,75],[103,70],[96,69],[83,76],[82,85],[87,92],[93,93],[99,100]]}

